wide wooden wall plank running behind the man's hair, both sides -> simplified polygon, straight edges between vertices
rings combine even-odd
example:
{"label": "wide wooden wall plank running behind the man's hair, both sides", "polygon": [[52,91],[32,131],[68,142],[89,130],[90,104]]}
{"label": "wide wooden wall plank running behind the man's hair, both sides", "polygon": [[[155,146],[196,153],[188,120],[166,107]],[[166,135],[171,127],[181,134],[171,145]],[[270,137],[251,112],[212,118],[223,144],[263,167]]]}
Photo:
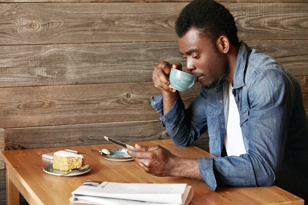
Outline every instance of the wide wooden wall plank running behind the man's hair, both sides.
{"label": "wide wooden wall plank running behind the man's hair, both sides", "polygon": [[[176,41],[175,21],[186,4],[2,3],[0,45]],[[308,4],[223,4],[242,40],[307,39]]]}

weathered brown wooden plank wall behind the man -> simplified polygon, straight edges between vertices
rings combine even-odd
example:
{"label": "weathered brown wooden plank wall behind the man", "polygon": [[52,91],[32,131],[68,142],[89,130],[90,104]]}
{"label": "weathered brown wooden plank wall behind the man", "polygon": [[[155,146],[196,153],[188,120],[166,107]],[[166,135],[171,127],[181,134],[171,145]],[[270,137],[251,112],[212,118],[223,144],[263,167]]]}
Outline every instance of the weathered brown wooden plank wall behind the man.
{"label": "weathered brown wooden plank wall behind the man", "polygon": [[[152,70],[183,63],[174,25],[189,1],[0,0],[0,149],[168,138],[150,104]],[[308,113],[307,0],[220,2],[240,40],[296,75]],[[183,95],[187,105],[198,88]],[[1,160],[0,169],[4,205]]]}

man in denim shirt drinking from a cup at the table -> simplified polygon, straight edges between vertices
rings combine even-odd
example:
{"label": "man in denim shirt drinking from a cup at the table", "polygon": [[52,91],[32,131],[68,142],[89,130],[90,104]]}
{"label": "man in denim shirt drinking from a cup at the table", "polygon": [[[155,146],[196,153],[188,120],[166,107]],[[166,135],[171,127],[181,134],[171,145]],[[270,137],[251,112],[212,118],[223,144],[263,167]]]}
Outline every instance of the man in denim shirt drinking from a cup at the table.
{"label": "man in denim shirt drinking from a cup at the table", "polygon": [[[194,0],[176,22],[186,69],[202,85],[185,109],[165,74],[181,64],[161,62],[152,97],[175,145],[208,130],[216,158],[185,159],[160,146],[136,145],[134,160],[155,176],[183,176],[217,186],[277,185],[308,199],[308,123],[301,88],[275,59],[239,42],[232,15],[213,0]],[[187,169],[189,167],[189,169]]]}

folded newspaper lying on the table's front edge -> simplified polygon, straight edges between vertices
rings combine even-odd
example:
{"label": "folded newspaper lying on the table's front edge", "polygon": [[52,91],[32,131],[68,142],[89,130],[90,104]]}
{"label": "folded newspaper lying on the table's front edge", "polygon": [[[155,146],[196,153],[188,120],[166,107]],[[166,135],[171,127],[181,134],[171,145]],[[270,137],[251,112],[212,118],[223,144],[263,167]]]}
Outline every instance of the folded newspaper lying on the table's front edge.
{"label": "folded newspaper lying on the table's front edge", "polygon": [[93,205],[188,205],[193,188],[187,184],[115,183],[87,180],[69,201]]}

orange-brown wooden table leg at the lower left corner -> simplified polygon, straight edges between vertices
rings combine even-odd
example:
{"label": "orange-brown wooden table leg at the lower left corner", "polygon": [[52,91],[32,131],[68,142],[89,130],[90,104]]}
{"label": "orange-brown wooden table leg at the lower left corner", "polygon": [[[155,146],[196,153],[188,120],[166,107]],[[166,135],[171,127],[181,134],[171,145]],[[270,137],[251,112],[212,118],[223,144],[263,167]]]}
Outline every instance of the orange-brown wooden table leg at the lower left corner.
{"label": "orange-brown wooden table leg at the lower left corner", "polygon": [[19,205],[19,191],[10,180],[10,169],[6,168],[6,205]]}

